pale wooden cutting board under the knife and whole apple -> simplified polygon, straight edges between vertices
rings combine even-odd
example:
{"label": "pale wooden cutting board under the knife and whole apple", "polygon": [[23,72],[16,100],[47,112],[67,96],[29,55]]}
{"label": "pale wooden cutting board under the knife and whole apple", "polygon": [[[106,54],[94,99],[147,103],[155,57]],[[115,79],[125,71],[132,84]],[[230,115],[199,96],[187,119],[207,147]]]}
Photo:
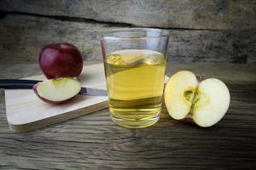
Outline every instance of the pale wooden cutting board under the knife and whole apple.
{"label": "pale wooden cutting board under the knife and whole apple", "polygon": [[[45,77],[24,79],[44,80]],[[79,82],[82,87],[106,89],[103,65],[84,66]],[[77,95],[65,104],[50,105],[38,99],[32,89],[12,89],[5,90],[5,105],[9,127],[22,133],[108,108],[108,97]]]}

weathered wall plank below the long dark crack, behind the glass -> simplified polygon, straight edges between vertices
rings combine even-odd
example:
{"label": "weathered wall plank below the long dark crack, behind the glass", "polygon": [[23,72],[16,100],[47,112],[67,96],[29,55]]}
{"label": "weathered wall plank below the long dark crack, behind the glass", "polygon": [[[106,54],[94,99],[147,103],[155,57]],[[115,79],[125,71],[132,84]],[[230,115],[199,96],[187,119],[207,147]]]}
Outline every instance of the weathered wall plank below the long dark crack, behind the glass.
{"label": "weathered wall plank below the long dark crack, behind the glass", "polygon": [[[37,60],[44,45],[72,42],[85,60],[102,60],[100,39],[104,32],[120,28],[94,22],[53,20],[8,14],[0,20],[0,60]],[[254,31],[170,30],[171,61],[252,63],[256,61]]]}

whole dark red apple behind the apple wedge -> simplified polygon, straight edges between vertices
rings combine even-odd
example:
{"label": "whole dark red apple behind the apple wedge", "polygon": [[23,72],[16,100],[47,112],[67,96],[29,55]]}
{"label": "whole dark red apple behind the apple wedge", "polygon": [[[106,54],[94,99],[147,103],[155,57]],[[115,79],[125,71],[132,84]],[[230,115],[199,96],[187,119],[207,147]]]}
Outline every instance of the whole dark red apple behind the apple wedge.
{"label": "whole dark red apple behind the apple wedge", "polygon": [[79,49],[67,42],[46,45],[39,54],[38,62],[48,79],[79,77],[83,70]]}

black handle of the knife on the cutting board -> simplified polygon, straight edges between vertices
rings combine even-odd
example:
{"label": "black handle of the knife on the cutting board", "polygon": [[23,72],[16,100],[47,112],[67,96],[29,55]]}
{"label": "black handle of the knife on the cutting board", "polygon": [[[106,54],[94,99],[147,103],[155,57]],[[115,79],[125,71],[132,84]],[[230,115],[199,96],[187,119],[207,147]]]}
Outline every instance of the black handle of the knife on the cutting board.
{"label": "black handle of the knife on the cutting board", "polygon": [[0,88],[5,89],[32,89],[38,80],[0,79]]}

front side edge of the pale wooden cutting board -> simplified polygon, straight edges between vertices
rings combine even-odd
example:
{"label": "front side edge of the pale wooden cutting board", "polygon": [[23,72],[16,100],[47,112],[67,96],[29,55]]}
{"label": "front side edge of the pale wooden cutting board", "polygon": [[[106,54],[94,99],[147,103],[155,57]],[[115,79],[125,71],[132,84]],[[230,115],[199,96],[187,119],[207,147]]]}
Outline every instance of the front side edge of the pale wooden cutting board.
{"label": "front side edge of the pale wooden cutting board", "polygon": [[95,111],[101,111],[103,109],[108,108],[108,100],[106,101],[102,101],[101,103],[98,103],[96,105],[91,105],[90,107],[87,107],[86,109],[81,108],[79,110],[76,111],[69,111],[66,113],[62,113],[60,115],[56,115],[56,116],[50,116],[47,117],[45,119],[41,119],[35,122],[29,122],[29,123],[25,123],[25,124],[12,124],[10,122],[9,123],[9,127],[10,129],[15,132],[15,133],[26,133],[29,131],[33,131],[33,130],[37,130],[39,128],[42,127],[48,127],[50,125],[53,125],[55,123],[59,123],[59,122],[66,122],[70,119],[79,117],[79,116],[84,116],[84,115],[88,115],[90,113],[93,113]]}

